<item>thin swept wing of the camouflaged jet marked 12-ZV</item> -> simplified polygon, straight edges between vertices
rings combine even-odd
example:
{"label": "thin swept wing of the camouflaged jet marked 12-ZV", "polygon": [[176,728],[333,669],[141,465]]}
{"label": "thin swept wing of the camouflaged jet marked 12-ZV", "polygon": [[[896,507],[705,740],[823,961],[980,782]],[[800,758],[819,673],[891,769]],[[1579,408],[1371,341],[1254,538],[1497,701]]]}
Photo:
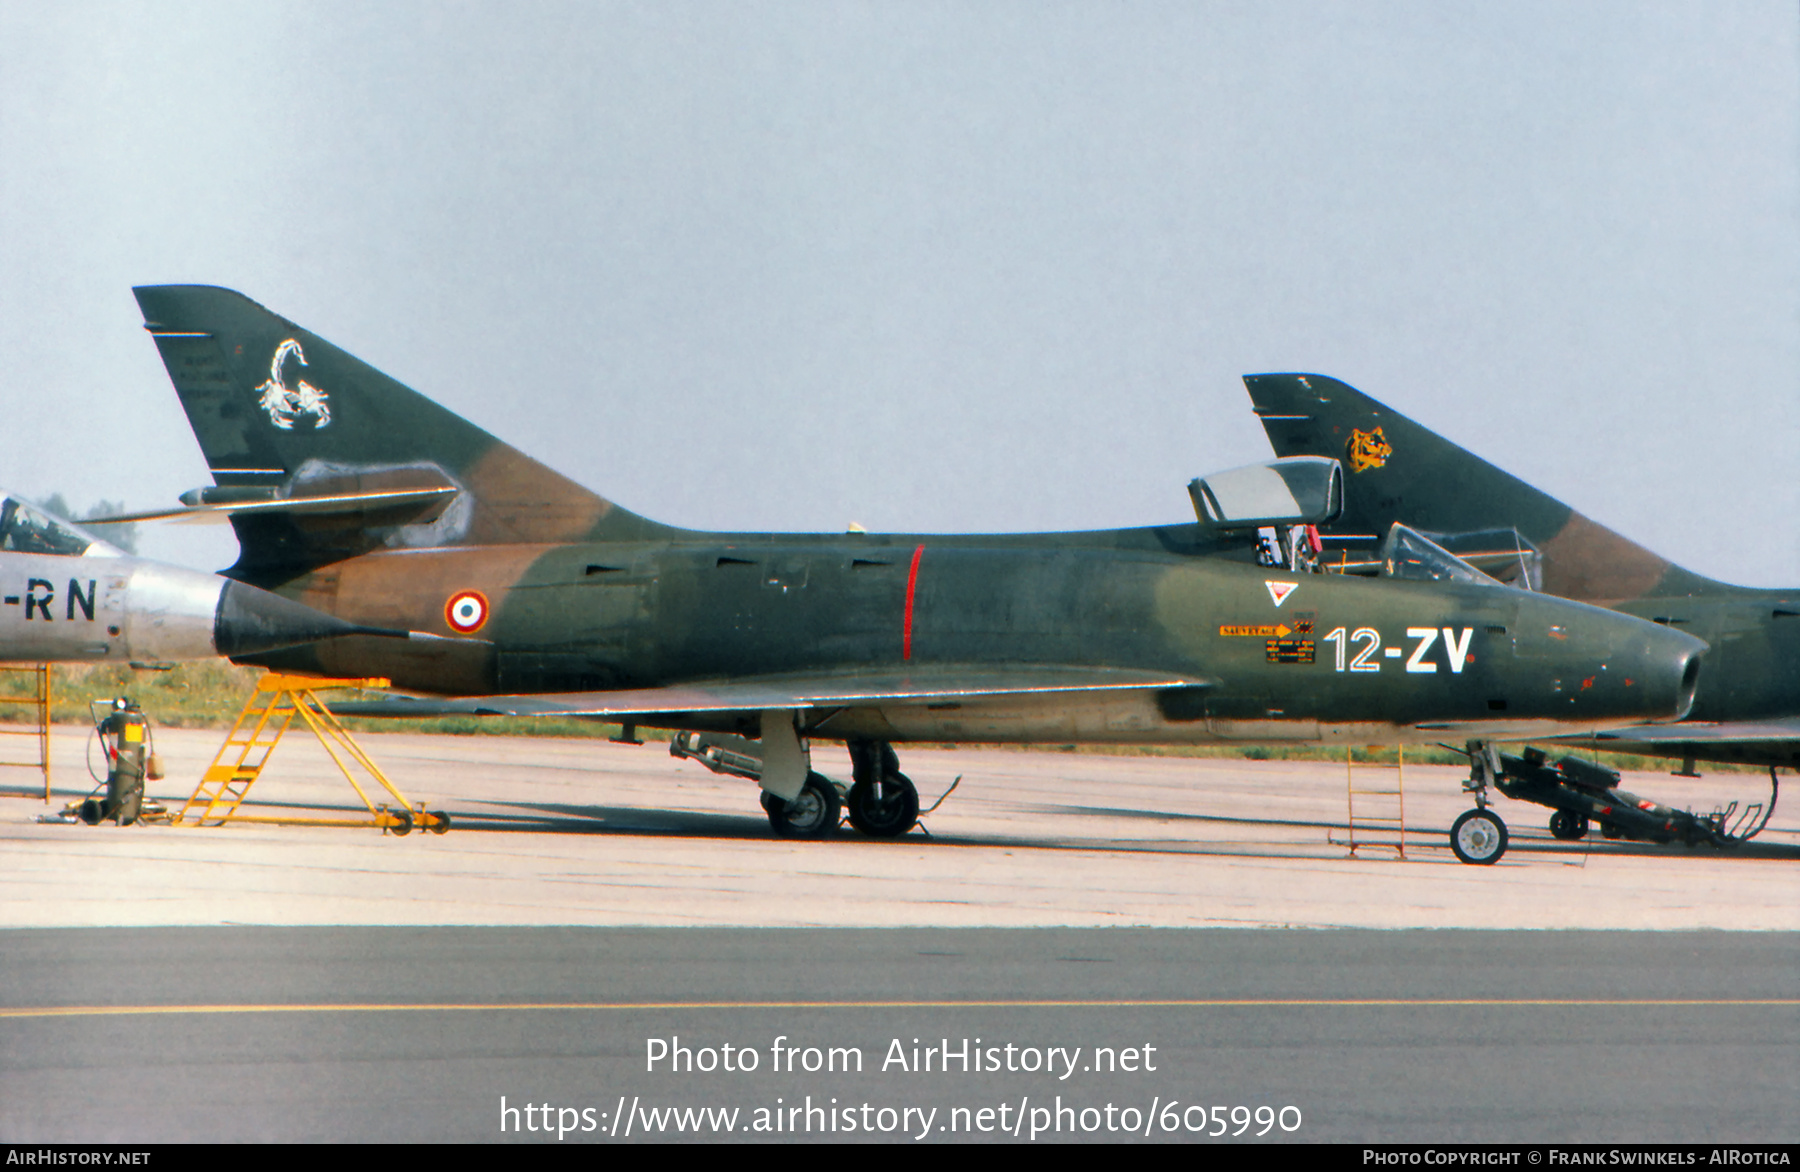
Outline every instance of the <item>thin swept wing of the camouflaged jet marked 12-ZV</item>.
{"label": "thin swept wing of the camouflaged jet marked 12-ZV", "polygon": [[652,717],[661,713],[763,711],[772,708],[850,708],[932,704],[1071,691],[1147,691],[1208,688],[1215,681],[1172,672],[1080,666],[931,666],[896,672],[769,675],[716,682],[333,704],[342,717]]}

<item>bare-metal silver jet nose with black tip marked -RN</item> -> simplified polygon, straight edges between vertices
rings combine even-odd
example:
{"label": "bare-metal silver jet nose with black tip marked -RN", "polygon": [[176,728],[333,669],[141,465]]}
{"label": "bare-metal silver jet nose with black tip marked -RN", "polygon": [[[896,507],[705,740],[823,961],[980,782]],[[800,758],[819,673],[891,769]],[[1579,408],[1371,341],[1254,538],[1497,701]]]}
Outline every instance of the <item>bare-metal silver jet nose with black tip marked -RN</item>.
{"label": "bare-metal silver jet nose with black tip marked -RN", "polygon": [[164,664],[389,636],[218,574],[135,558],[0,491],[0,663]]}

